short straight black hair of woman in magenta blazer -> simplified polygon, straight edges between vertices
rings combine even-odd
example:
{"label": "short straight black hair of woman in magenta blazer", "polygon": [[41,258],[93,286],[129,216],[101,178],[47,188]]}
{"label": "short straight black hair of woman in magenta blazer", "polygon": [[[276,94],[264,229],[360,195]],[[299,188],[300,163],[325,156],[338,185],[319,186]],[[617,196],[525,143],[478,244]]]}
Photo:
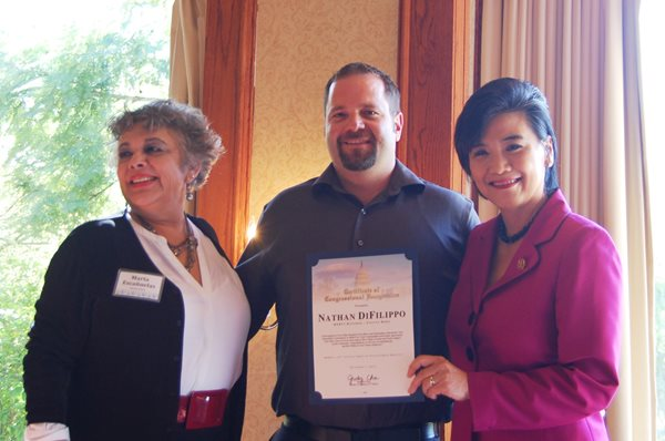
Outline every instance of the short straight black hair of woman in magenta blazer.
{"label": "short straight black hair of woman in magenta blazer", "polygon": [[475,91],[464,104],[454,127],[454,148],[462,168],[469,176],[469,154],[480,143],[488,125],[498,115],[509,112],[522,112],[531,130],[544,141],[552,139],[554,165],[545,172],[545,193],[552,194],[559,188],[556,176],[556,135],[552,126],[548,100],[535,85],[513,78],[490,81]]}

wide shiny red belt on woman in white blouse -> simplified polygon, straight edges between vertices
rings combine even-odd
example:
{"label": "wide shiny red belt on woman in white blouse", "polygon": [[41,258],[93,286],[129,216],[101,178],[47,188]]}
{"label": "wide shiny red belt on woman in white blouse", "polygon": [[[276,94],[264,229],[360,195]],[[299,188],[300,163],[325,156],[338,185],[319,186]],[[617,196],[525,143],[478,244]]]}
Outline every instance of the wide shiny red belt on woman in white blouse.
{"label": "wide shiny red belt on woman in white blouse", "polygon": [[227,397],[227,389],[200,390],[181,397],[177,422],[188,430],[222,425]]}

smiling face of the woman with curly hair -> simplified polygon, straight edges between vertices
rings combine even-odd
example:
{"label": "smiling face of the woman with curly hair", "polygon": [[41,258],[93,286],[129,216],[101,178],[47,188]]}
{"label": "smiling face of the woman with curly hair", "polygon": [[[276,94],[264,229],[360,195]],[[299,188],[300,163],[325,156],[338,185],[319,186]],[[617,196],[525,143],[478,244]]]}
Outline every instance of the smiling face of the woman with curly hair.
{"label": "smiling face of the woman with curly hair", "polygon": [[117,180],[125,201],[146,218],[182,216],[187,182],[178,137],[168,129],[134,126],[117,140]]}

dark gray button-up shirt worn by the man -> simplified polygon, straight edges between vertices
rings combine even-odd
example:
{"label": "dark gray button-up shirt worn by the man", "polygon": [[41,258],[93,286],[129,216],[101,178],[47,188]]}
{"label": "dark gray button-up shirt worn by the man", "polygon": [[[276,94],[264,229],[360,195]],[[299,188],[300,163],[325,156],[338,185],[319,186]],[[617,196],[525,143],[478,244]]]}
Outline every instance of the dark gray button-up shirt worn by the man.
{"label": "dark gray button-up shirt worn by the man", "polygon": [[[309,397],[308,256],[408,249],[417,256],[419,353],[448,356],[444,321],[469,232],[471,201],[421,180],[397,162],[389,185],[362,205],[332,165],[318,178],[277,195],[264,208],[257,237],[237,270],[252,306],[253,332],[276,302],[277,383],[273,408],[314,424],[349,429],[446,421],[444,399],[409,403],[313,404]],[[405,371],[405,376],[407,372]]]}

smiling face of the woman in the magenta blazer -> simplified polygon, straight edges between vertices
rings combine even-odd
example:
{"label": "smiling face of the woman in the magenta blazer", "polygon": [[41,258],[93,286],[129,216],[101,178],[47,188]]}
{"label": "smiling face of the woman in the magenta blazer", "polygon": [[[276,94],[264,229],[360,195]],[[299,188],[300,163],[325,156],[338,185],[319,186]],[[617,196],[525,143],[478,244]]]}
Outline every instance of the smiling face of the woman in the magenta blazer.
{"label": "smiling face of the woman in the magenta blazer", "polygon": [[539,140],[522,112],[494,116],[469,154],[479,192],[502,213],[521,211],[528,218],[546,197],[545,171],[553,162],[552,141]]}

